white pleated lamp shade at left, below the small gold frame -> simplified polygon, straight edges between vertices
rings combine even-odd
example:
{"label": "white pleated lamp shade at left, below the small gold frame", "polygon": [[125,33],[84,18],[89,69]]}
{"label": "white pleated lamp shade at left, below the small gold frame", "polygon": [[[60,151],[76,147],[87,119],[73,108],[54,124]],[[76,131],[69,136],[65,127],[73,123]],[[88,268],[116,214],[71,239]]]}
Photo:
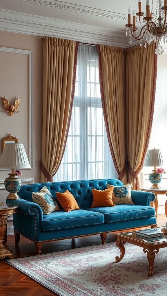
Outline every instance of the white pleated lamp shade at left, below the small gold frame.
{"label": "white pleated lamp shade at left, below the small gold frame", "polygon": [[5,144],[0,159],[0,168],[31,168],[23,144]]}

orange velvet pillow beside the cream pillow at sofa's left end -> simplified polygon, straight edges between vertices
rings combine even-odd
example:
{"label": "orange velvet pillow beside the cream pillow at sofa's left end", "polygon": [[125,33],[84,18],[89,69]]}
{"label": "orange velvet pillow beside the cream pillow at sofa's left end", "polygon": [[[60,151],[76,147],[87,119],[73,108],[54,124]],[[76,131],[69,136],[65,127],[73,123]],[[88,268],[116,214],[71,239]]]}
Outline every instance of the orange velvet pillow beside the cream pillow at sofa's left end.
{"label": "orange velvet pillow beside the cream pillow at sofa's left end", "polygon": [[78,204],[70,191],[56,192],[57,200],[66,212],[79,210]]}

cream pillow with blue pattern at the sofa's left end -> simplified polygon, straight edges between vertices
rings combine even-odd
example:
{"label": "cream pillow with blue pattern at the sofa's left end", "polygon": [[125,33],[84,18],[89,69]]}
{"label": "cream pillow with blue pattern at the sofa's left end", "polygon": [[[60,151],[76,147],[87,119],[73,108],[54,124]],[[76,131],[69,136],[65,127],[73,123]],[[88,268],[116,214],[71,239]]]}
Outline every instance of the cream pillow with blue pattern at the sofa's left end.
{"label": "cream pillow with blue pattern at the sofa's left end", "polygon": [[35,203],[37,203],[41,208],[43,214],[50,214],[55,211],[59,211],[59,206],[54,200],[51,192],[44,186],[38,192],[32,192],[32,199]]}

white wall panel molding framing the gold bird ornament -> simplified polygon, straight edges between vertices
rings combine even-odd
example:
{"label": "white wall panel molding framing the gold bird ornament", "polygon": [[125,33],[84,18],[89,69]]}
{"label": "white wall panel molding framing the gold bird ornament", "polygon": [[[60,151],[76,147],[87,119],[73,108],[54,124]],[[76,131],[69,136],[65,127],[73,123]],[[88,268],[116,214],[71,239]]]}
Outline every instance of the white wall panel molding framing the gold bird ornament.
{"label": "white wall panel molding framing the gold bird ornament", "polygon": [[8,47],[0,47],[0,52],[10,52],[15,54],[26,54],[29,57],[29,133],[28,133],[28,159],[33,168],[34,163],[34,147],[33,147],[33,52],[24,49],[15,49]]}

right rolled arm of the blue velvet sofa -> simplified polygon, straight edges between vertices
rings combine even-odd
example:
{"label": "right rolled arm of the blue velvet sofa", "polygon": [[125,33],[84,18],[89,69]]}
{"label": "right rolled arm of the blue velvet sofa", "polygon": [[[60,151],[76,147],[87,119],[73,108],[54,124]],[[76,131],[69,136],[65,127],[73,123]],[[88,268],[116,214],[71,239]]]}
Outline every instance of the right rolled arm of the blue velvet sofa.
{"label": "right rolled arm of the blue velvet sofa", "polygon": [[150,206],[150,202],[153,202],[155,200],[154,193],[137,190],[132,190],[131,197],[135,205]]}

